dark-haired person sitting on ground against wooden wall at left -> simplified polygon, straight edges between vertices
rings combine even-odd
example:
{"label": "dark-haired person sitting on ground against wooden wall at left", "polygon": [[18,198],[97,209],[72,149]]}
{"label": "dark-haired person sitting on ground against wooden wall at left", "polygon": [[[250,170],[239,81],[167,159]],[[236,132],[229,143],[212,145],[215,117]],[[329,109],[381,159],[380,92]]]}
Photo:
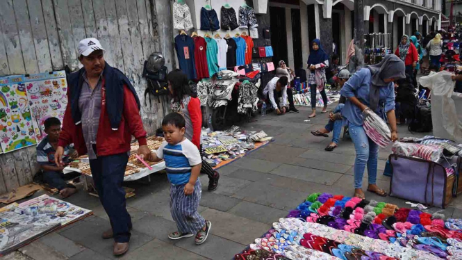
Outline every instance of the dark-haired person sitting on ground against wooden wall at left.
{"label": "dark-haired person sitting on ground against wooden wall at left", "polygon": [[[63,167],[59,167],[55,163],[54,154],[58,147],[58,138],[61,131],[61,122],[56,117],[49,117],[44,122],[45,136],[37,145],[37,161],[43,171],[43,180],[49,186],[57,188],[59,194],[63,197],[69,197],[77,192],[75,186],[66,184],[64,179]],[[76,157],[77,154],[72,154]],[[69,147],[64,148],[63,162],[67,165],[69,162]]]}

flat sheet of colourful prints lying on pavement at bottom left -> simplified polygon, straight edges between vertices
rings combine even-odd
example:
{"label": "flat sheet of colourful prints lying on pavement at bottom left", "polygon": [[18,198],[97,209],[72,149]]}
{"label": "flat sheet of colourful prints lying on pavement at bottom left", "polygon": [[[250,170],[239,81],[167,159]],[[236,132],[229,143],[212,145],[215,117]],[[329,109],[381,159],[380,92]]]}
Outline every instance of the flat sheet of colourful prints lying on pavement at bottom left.
{"label": "flat sheet of colourful prints lying on pavement at bottom left", "polygon": [[40,236],[92,214],[69,202],[42,195],[0,212],[0,255],[8,254]]}

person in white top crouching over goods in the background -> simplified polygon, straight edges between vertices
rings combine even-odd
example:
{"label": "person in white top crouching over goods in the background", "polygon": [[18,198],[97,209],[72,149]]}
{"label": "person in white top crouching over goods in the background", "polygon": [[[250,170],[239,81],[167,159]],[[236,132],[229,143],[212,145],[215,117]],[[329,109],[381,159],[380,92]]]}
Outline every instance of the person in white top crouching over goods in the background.
{"label": "person in white top crouching over goods in the background", "polygon": [[[275,76],[270,82],[268,82],[263,90],[263,95],[266,97],[266,102],[270,100],[272,109],[276,111],[278,115],[283,115],[286,112],[298,113],[297,109],[294,106],[294,98],[292,95],[292,90],[287,91],[287,76],[281,76],[278,78]],[[282,105],[279,106],[279,97],[282,95]],[[287,108],[287,99],[289,99],[289,108]],[[272,109],[269,109],[267,112],[271,112]]]}

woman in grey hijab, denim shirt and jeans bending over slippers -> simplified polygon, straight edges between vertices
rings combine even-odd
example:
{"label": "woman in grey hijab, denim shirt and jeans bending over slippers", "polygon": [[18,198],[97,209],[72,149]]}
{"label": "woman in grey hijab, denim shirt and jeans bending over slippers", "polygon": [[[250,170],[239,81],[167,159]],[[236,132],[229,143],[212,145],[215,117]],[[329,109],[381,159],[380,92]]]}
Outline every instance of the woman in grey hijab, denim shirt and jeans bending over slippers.
{"label": "woman in grey hijab, denim shirt and jeans bending over slippers", "polygon": [[348,126],[349,136],[356,149],[354,162],[354,195],[364,198],[361,188],[365,166],[368,165],[369,186],[368,191],[386,196],[385,190],[376,185],[377,159],[379,145],[366,135],[363,129],[362,112],[370,109],[383,120],[390,123],[391,139],[397,140],[395,117],[395,86],[393,81],[405,79],[404,62],[397,56],[385,56],[381,63],[363,67],[345,83],[340,95],[347,98],[343,107],[343,124]]}

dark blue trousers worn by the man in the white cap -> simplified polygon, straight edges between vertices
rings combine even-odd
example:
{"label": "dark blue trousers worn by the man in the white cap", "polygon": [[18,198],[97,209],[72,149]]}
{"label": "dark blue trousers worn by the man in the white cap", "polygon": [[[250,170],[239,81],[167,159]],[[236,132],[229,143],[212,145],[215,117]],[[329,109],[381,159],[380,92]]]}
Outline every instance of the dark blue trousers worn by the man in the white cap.
{"label": "dark blue trousers worn by the man in the white cap", "polygon": [[130,240],[131,217],[126,211],[125,190],[122,188],[126,163],[126,153],[99,156],[90,160],[90,168],[99,200],[109,216],[113,227],[114,241],[126,243]]}

